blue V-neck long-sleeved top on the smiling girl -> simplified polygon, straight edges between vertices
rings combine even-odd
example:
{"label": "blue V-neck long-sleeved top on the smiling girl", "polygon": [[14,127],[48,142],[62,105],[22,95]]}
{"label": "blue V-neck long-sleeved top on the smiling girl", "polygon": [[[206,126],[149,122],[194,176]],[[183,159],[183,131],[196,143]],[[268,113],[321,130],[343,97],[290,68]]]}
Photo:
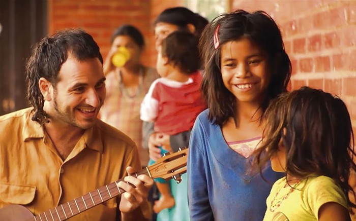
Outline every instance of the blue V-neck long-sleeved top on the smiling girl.
{"label": "blue V-neck long-sleeved top on the smiling girl", "polygon": [[219,125],[209,122],[209,109],[196,119],[189,142],[188,200],[191,220],[263,219],[266,198],[283,173],[269,165],[251,171],[252,157],[244,158],[226,143]]}

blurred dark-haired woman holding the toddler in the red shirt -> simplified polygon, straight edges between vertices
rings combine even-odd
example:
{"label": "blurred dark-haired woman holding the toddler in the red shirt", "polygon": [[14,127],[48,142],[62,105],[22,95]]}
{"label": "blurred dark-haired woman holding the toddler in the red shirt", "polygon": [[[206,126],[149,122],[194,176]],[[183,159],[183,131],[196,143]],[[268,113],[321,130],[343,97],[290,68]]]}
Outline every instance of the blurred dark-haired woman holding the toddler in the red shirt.
{"label": "blurred dark-haired woman holding the toddler in the red shirt", "polygon": [[[190,32],[193,33],[196,38],[199,38],[201,30],[204,28],[204,23],[208,23],[206,19],[205,22],[202,21],[203,19],[202,16],[184,7],[165,9],[157,16],[154,22],[156,50],[160,48],[162,40],[174,31]],[[169,48],[167,50],[169,50]],[[200,59],[191,62],[196,62],[197,66],[200,67]],[[201,75],[201,72],[198,72],[199,75]],[[158,133],[154,131],[153,122],[144,122],[143,144],[148,145],[150,159],[157,161],[161,157],[161,149],[158,147],[169,150],[169,152],[176,152],[179,148],[188,147],[190,132],[191,130],[188,130],[174,135]],[[189,220],[186,174],[182,175],[182,182],[179,184],[177,184],[175,180],[170,180],[170,188],[171,195],[175,200],[175,205],[172,208],[160,211],[157,215],[157,220]],[[158,200],[158,194],[155,190],[155,187],[152,188],[152,202]],[[153,217],[153,219],[155,219],[155,217]]]}

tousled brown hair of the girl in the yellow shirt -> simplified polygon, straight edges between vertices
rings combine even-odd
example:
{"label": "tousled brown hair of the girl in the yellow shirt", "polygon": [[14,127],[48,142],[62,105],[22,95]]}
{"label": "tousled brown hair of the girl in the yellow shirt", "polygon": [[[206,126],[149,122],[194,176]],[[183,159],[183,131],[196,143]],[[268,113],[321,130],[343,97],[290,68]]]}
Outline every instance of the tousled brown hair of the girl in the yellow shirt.
{"label": "tousled brown hair of the girl in the yellow shirt", "polygon": [[264,118],[262,144],[255,151],[260,171],[276,156],[282,140],[286,174],[299,179],[328,176],[355,207],[348,197],[353,192],[348,185],[350,170],[356,170],[353,131],[347,107],[339,97],[303,87],[271,101]]}

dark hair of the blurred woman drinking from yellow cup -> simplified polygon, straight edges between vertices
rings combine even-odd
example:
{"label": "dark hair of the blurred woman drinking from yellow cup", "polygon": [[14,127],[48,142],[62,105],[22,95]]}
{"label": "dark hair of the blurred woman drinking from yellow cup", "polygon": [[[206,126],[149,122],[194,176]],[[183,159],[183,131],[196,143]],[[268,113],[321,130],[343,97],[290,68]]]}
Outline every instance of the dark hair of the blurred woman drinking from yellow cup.
{"label": "dark hair of the blurred woman drinking from yellow cup", "polygon": [[129,24],[124,24],[116,30],[111,35],[110,43],[112,44],[117,36],[126,35],[129,36],[140,49],[144,47],[144,38],[142,33],[134,26]]}

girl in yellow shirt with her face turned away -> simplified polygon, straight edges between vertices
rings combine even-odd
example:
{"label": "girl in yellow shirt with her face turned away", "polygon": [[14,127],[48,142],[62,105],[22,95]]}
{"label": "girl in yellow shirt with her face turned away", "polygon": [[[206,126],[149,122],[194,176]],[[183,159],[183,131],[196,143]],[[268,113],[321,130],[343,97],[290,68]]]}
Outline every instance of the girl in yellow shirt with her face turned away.
{"label": "girl in yellow shirt with her face turned away", "polygon": [[350,220],[348,180],[356,165],[345,103],[303,87],[272,101],[265,120],[255,162],[262,170],[271,160],[286,176],[274,183],[263,220]]}

